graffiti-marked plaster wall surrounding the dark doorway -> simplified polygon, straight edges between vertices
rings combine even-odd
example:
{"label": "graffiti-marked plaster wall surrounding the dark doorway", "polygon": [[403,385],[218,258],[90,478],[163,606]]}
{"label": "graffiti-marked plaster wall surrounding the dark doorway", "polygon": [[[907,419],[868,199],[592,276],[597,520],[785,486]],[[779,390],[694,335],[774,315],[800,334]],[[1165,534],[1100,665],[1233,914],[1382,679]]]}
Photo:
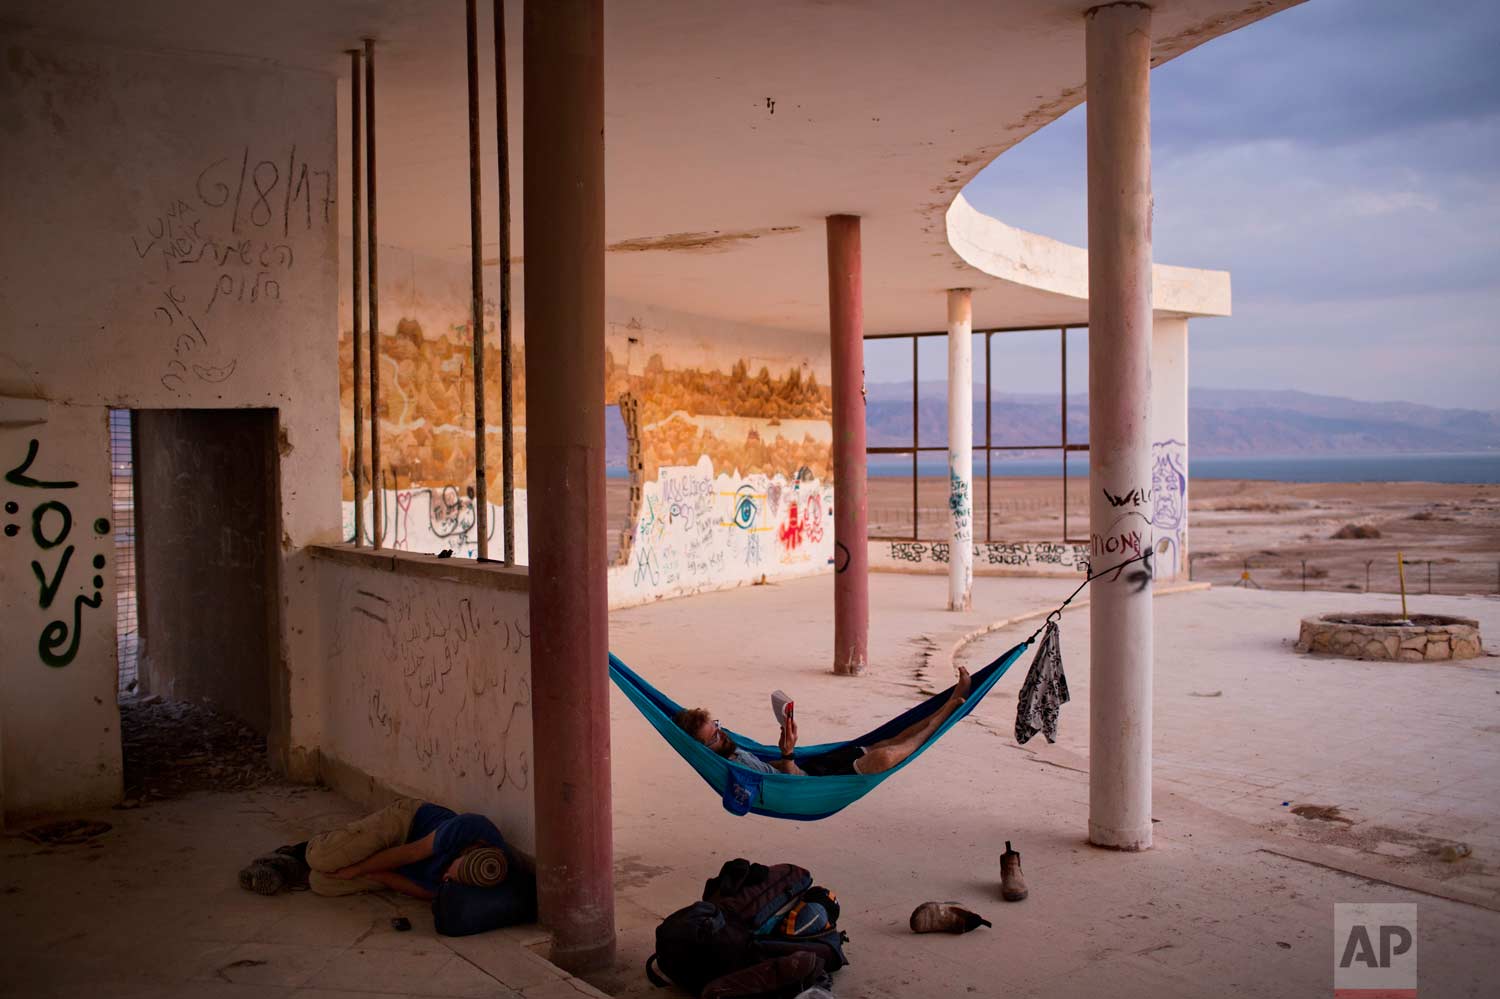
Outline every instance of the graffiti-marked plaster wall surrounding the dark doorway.
{"label": "graffiti-marked plaster wall surrounding the dark doorway", "polygon": [[[3,810],[120,794],[112,570],[90,564],[111,552],[108,531],[96,532],[110,516],[108,406],[279,411],[286,670],[272,740],[310,776],[318,620],[300,549],[339,530],[334,82],[20,32],[4,50],[0,396],[12,402],[0,406],[30,416],[0,420],[0,466],[78,484],[4,483],[16,504],[4,524],[20,531],[0,540],[0,614],[15,636],[0,680]],[[30,472],[16,471],[33,440]],[[72,534],[45,548],[32,516],[54,501]],[[45,514],[44,537],[60,524]],[[68,544],[78,548],[42,606],[30,562],[54,573]],[[54,664],[60,650],[66,663]]]}

